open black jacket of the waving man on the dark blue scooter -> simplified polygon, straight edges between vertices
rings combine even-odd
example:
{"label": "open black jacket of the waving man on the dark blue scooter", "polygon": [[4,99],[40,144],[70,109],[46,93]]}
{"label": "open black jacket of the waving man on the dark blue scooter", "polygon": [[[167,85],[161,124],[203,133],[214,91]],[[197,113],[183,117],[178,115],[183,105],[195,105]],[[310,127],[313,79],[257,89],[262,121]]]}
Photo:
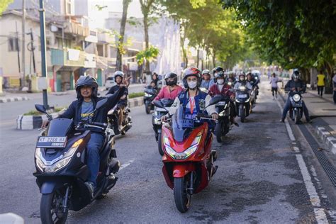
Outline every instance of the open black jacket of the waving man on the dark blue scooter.
{"label": "open black jacket of the waving man on the dark blue scooter", "polygon": [[[101,101],[102,99],[108,99],[107,103],[103,108],[100,108],[98,111],[94,113],[94,117],[92,118],[92,121],[94,122],[101,122],[101,123],[107,123],[107,113],[113,106],[116,106],[116,103],[118,103],[119,99],[123,94],[125,93],[125,87],[121,87],[116,91],[113,95],[110,96],[104,96],[104,97],[94,97],[92,98],[92,102],[94,103],[94,108],[96,108],[96,104],[98,101]],[[82,113],[82,101],[84,99],[80,98],[75,101],[73,101],[67,110],[62,113],[58,118],[68,118],[73,119],[74,125],[77,125],[81,121],[81,113]],[[89,128],[89,130],[92,130],[94,132],[102,133],[103,131],[99,128]]]}

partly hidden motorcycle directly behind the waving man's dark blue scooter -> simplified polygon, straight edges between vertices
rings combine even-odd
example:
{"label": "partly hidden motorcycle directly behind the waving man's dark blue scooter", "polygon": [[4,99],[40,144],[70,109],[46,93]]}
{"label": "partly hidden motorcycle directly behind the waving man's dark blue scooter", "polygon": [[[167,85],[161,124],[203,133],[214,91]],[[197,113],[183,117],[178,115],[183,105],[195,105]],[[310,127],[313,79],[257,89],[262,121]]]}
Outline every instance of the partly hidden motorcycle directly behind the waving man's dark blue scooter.
{"label": "partly hidden motorcycle directly behind the waving man's dark blue scooter", "polygon": [[130,128],[132,128],[132,118],[130,116],[130,108],[128,106],[123,110],[123,121],[121,122],[121,127],[118,126],[119,113],[121,113],[121,108],[118,104],[111,108],[107,113],[108,128],[111,128],[116,135],[125,135]]}

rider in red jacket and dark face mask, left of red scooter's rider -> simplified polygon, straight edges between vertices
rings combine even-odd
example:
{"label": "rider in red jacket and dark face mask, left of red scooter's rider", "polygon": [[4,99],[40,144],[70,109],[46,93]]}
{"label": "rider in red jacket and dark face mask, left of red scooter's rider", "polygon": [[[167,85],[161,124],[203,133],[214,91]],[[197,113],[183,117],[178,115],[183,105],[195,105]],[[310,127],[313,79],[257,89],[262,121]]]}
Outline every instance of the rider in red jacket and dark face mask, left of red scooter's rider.
{"label": "rider in red jacket and dark face mask, left of red scooter's rider", "polygon": [[155,101],[160,99],[172,99],[174,100],[179,92],[182,90],[181,86],[177,85],[177,74],[174,72],[169,72],[164,76],[164,81],[166,82],[167,86],[164,86],[160,91],[159,94],[155,97]]}

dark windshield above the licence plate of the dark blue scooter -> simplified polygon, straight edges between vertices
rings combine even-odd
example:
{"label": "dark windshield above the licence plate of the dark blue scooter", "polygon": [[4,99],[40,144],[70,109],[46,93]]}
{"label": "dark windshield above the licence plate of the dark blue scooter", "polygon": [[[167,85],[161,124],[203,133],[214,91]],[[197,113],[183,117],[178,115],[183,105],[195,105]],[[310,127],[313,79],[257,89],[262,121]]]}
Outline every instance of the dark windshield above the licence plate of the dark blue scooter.
{"label": "dark windshield above the licence plate of the dark blue scooter", "polygon": [[72,128],[74,123],[71,119],[56,118],[50,121],[47,136],[66,136]]}

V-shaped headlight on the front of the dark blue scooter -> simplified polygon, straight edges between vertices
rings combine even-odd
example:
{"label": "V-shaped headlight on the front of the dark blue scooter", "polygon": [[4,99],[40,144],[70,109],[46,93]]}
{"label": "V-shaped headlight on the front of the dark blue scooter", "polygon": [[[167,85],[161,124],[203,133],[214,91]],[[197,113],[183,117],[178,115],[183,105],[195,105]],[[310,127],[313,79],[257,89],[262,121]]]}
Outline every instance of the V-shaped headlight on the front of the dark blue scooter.
{"label": "V-shaped headlight on the front of the dark blue scooter", "polygon": [[65,152],[59,160],[57,160],[57,162],[53,163],[53,164],[46,164],[47,162],[45,162],[45,159],[42,156],[42,152],[40,148],[36,148],[35,150],[35,158],[36,158],[36,164],[38,166],[38,168],[41,171],[47,172],[47,173],[51,173],[51,172],[57,172],[58,170],[62,169],[63,167],[65,167],[67,164],[69,164],[69,162],[72,159],[72,156],[74,155],[74,152],[76,152],[77,148],[79,147],[79,145],[83,142],[83,139],[79,139],[76,142],[74,142],[74,144],[72,144],[72,147],[69,148],[69,150],[67,150],[67,152]]}

